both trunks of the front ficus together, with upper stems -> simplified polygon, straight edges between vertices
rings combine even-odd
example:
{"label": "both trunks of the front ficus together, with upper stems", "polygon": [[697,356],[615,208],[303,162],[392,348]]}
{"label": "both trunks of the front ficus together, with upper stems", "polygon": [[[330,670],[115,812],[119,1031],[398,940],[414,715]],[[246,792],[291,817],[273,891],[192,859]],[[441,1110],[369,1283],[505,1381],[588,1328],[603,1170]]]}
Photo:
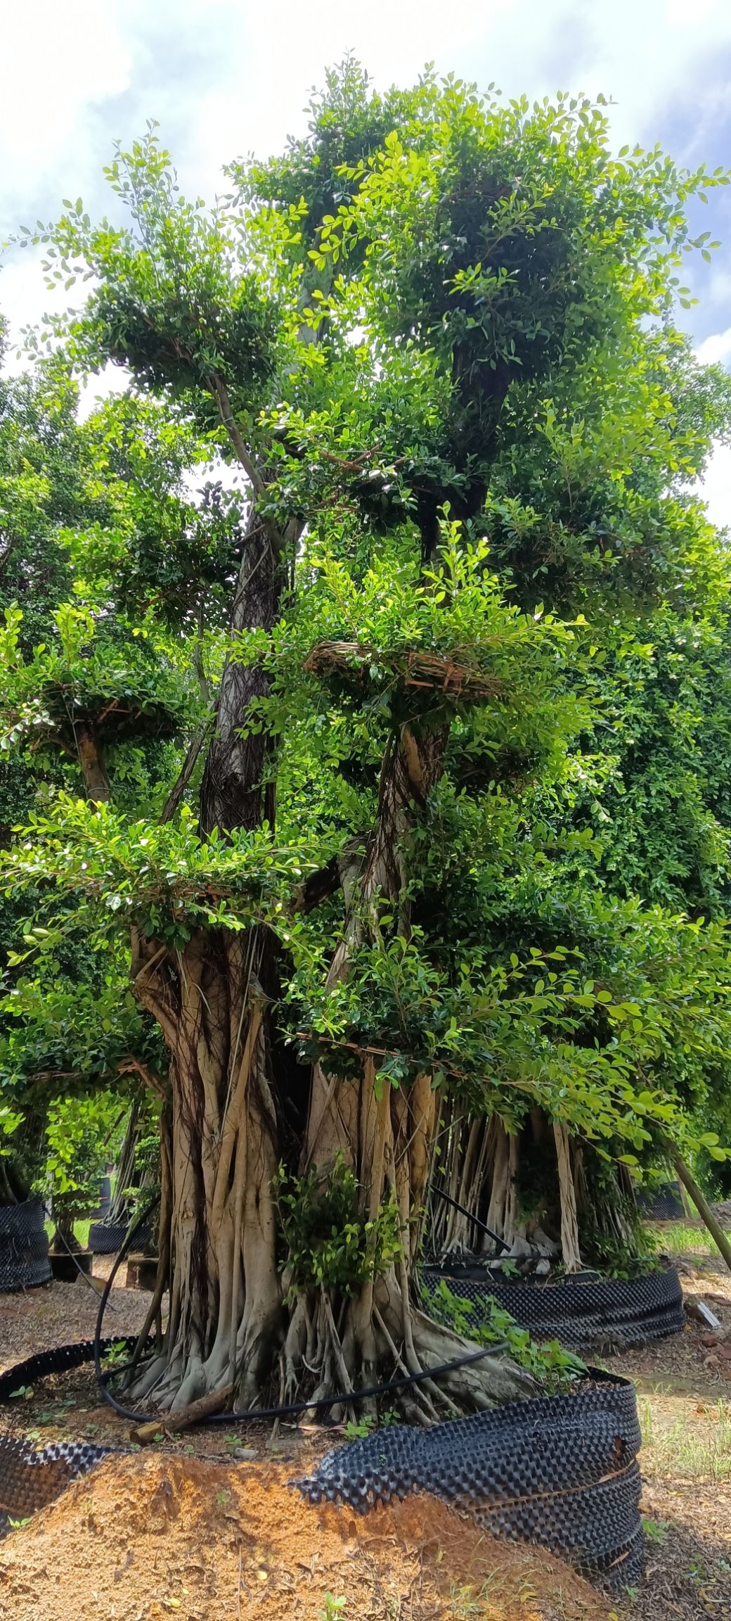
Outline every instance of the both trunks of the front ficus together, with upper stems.
{"label": "both trunks of the front ficus together, with upper stems", "polygon": [[[290,541],[297,537],[297,530]],[[284,580],[267,527],[256,514],[245,543],[232,631],[271,629]],[[201,789],[201,832],[274,825],[266,734],[243,736],[253,699],[266,692],[256,666],[227,663],[216,734]],[[384,903],[408,932],[405,840],[408,807],[425,804],[441,773],[447,726],[417,738],[404,729],[381,778],[379,814],[363,870],[345,874],[348,922],[329,982],[348,974],[365,937],[376,939]],[[395,1370],[423,1373],[470,1347],[423,1316],[413,1302],[412,1268],[420,1213],[426,1203],[436,1101],[426,1076],[404,1093],[365,1060],[361,1073],[314,1070],[301,1169],[316,1165],[323,1183],[339,1154],[355,1172],[363,1221],[378,1222],[395,1206],[400,1253],[353,1297],[306,1289],[284,1302],[277,1271],[274,1178],[280,1157],[269,1000],[277,994],[274,942],[267,930],[195,934],[183,952],[136,940],[135,986],[159,1021],[170,1050],[170,1140],[164,1149],[160,1263],[147,1332],[165,1281],[170,1315],[162,1345],[131,1381],[138,1397],[180,1410],[233,1384],[238,1409],[279,1389],[318,1397],[378,1383]],[[370,1229],[373,1242],[373,1227]],[[143,1336],[141,1336],[143,1339]],[[141,1342],[141,1341],[139,1341]],[[314,1389],[313,1389],[314,1384]],[[421,1422],[438,1401],[483,1407],[509,1399],[532,1381],[502,1360],[446,1376],[446,1394],[426,1381],[400,1401]]]}

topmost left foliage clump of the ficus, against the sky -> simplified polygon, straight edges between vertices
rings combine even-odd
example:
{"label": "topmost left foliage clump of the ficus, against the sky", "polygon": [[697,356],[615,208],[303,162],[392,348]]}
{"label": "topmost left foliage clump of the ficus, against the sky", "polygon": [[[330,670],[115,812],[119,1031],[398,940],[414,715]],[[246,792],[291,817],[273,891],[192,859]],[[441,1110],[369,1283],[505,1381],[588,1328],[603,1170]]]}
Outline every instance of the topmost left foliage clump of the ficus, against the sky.
{"label": "topmost left foliage clump of the ficus, against the sky", "polygon": [[97,279],[84,314],[70,326],[75,358],[89,368],[113,358],[144,387],[173,394],[209,389],[219,373],[240,383],[243,373],[256,394],[271,366],[274,303],[253,271],[238,269],[240,220],[224,203],[206,214],[203,199],[180,198],[154,130],[149,123],[130,152],[117,146],[105,169],[128,227],[92,227],[78,199],[37,238],[49,287]]}

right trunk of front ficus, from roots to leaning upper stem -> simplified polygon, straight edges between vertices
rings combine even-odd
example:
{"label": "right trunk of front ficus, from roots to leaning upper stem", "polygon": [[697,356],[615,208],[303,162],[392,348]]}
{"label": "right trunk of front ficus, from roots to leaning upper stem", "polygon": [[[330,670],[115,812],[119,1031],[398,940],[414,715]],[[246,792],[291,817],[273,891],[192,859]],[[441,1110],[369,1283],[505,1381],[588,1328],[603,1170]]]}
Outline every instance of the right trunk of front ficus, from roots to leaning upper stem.
{"label": "right trunk of front ficus, from roots to leaning upper stem", "polygon": [[[404,729],[381,773],[376,828],[363,870],[344,883],[348,924],[334,955],[329,984],[347,977],[363,940],[376,940],[381,913],[394,911],[399,932],[408,934],[407,840],[410,806],[425,804],[441,775],[447,728],[417,736]],[[436,1135],[436,1094],[426,1075],[408,1088],[394,1088],[376,1076],[374,1060],[365,1057],[360,1073],[332,1075],[316,1067],[303,1169],[316,1165],[323,1183],[334,1164],[355,1174],[360,1188],[360,1216],[378,1222],[395,1206],[400,1253],[379,1276],[368,1279],[355,1298],[321,1290],[300,1297],[285,1345],[287,1386],[292,1389],[301,1362],[318,1368],[318,1392],[376,1383],[389,1376],[394,1363],[408,1373],[426,1373],[451,1362],[467,1347],[465,1341],[439,1328],[413,1303],[413,1263],[418,1227],[426,1204]],[[472,1368],[447,1375],[442,1388],[426,1376],[399,1405],[408,1417],[431,1422],[439,1402],[485,1407],[515,1397],[528,1381],[511,1363],[485,1358]]]}

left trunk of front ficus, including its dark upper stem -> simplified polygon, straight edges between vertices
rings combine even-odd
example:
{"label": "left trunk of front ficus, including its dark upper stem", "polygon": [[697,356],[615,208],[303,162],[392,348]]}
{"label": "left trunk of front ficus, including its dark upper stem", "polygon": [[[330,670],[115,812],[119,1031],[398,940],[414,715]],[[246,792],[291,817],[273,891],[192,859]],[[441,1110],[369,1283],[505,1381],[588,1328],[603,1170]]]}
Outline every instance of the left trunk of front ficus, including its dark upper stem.
{"label": "left trunk of front ficus, including its dark upper stem", "polygon": [[[298,528],[285,540],[293,545]],[[271,527],[253,509],[232,635],[276,622],[284,585]],[[201,785],[201,833],[274,827],[266,731],[246,734],[258,665],[225,663]],[[242,734],[243,733],[243,734]],[[160,1255],[147,1332],[165,1285],[162,1347],[135,1386],[160,1409],[188,1405],[227,1383],[240,1407],[266,1391],[282,1339],[274,1177],[277,1099],[269,1000],[274,940],[264,929],[199,930],[183,952],[133,940],[135,989],[170,1054],[164,1120]],[[143,1336],[141,1336],[143,1339]]]}

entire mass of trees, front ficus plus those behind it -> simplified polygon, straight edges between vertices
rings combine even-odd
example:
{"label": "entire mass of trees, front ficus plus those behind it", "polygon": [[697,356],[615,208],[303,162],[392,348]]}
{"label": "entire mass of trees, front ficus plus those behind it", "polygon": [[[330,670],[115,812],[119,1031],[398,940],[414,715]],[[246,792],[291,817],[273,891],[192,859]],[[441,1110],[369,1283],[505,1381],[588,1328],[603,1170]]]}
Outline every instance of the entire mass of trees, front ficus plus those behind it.
{"label": "entire mass of trees, front ficus plus those behind it", "polygon": [[0,394],[3,1187],[143,1088],[136,1392],[314,1399],[459,1355],[441,1193],[611,1266],[639,1167],[723,1167],[731,386],[674,321],[728,175],[345,63],[212,207],[154,128],[107,178]]}

